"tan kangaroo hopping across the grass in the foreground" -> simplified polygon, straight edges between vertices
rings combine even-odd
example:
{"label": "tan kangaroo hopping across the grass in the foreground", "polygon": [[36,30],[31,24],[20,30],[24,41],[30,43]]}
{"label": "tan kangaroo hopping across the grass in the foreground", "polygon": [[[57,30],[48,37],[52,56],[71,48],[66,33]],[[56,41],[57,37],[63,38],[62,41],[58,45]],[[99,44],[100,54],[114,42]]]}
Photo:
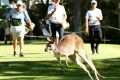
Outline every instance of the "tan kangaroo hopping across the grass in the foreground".
{"label": "tan kangaroo hopping across the grass in the foreground", "polygon": [[69,65],[67,60],[69,58],[71,61],[75,62],[77,65],[82,67],[82,69],[88,74],[90,79],[93,80],[93,77],[91,76],[89,70],[79,60],[79,56],[80,56],[92,68],[97,80],[100,80],[99,77],[105,78],[98,73],[98,71],[95,68],[95,65],[93,64],[92,60],[88,57],[88,54],[85,51],[84,42],[82,38],[76,35],[75,33],[64,36],[57,45],[54,42],[49,41],[49,43],[46,45],[45,51],[49,51],[49,50],[53,51],[63,71],[64,69],[62,67],[60,57],[65,56],[66,65],[68,67]]}

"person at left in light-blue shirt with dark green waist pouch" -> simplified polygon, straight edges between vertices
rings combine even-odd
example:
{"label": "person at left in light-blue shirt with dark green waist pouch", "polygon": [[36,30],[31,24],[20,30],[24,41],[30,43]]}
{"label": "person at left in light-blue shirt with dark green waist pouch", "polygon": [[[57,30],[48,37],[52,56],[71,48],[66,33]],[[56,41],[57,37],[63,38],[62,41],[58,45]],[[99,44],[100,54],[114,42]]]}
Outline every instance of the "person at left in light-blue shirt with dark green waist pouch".
{"label": "person at left in light-blue shirt with dark green waist pouch", "polygon": [[7,15],[7,19],[10,21],[10,31],[13,36],[13,49],[16,55],[17,39],[19,39],[20,57],[23,57],[24,35],[25,35],[25,20],[30,25],[29,28],[32,31],[32,22],[27,11],[23,8],[22,1],[17,2],[17,8],[13,8]]}

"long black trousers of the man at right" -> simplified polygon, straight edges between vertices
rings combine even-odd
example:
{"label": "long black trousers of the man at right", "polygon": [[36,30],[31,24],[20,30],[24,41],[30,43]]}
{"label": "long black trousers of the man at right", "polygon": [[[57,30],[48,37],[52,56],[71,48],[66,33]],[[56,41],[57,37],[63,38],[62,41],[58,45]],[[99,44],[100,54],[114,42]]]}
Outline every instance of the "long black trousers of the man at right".
{"label": "long black trousers of the man at right", "polygon": [[[91,43],[91,50],[98,49],[102,39],[102,30],[100,25],[89,26],[89,37]],[[96,44],[96,45],[95,45]]]}

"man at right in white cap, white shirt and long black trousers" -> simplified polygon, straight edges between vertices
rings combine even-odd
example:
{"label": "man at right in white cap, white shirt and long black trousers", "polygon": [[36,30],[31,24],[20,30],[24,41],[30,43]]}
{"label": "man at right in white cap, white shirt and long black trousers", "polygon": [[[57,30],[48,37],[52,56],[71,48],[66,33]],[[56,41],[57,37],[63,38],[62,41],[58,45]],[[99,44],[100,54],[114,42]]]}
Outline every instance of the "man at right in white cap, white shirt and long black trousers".
{"label": "man at right in white cap, white shirt and long black trousers", "polygon": [[[102,39],[102,30],[100,21],[103,19],[102,11],[97,8],[97,1],[91,1],[91,9],[89,9],[85,16],[85,27],[86,32],[89,32],[91,41],[91,50],[94,54],[98,53],[98,46]],[[96,41],[95,41],[96,40]],[[96,45],[95,45],[96,44]]]}

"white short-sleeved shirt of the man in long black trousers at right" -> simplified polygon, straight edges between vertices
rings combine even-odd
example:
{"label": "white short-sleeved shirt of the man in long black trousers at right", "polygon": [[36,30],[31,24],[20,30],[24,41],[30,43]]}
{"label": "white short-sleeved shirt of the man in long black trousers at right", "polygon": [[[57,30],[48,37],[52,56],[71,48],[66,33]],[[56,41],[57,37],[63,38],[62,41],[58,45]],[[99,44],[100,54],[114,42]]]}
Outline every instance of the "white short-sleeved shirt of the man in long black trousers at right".
{"label": "white short-sleeved shirt of the man in long black trousers at right", "polygon": [[97,16],[102,16],[100,9],[96,8],[87,11],[86,18],[88,19],[89,26],[100,25],[100,21],[96,18]]}

